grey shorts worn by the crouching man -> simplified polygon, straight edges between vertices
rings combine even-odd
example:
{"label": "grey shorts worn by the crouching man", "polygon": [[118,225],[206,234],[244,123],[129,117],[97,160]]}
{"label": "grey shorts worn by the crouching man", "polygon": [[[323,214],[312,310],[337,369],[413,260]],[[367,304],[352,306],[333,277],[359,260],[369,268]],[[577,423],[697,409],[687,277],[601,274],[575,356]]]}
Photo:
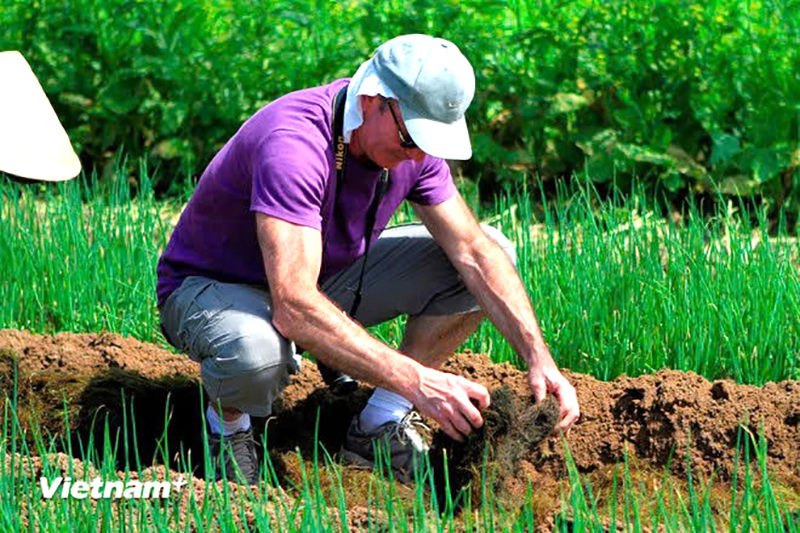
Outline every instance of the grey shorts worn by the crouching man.
{"label": "grey shorts worn by the crouching man", "polygon": [[[484,232],[516,262],[514,246],[490,226]],[[349,310],[363,258],[322,286]],[[442,248],[420,224],[386,229],[369,252],[356,320],[373,326],[399,315],[453,315],[479,310]],[[161,309],[167,341],[201,365],[212,401],[254,416],[272,403],[298,370],[294,344],[272,326],[272,301],[262,286],[186,278]]]}

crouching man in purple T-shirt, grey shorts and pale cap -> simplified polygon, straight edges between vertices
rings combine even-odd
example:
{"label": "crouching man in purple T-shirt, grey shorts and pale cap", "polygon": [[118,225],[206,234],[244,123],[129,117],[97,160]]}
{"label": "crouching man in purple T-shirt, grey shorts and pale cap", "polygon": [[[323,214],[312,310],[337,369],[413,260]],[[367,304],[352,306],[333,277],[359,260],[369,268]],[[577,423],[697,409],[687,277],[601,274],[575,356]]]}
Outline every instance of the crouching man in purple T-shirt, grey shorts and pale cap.
{"label": "crouching man in purple T-shirt, grey shorts and pale cap", "polygon": [[[166,337],[201,363],[221,405],[221,419],[207,410],[212,450],[226,441],[248,481],[249,415],[271,412],[296,371],[294,343],[377,387],[342,455],[372,464],[383,440],[402,480],[427,450],[412,407],[458,440],[482,425],[486,389],[436,369],[485,316],[528,361],[536,398],[558,396],[561,428],[578,418],[512,245],[476,223],[444,162],[471,156],[474,89],[455,45],[398,37],[351,80],[261,109],[203,174],[159,262],[159,307]],[[424,225],[383,231],[404,199]],[[400,314],[397,350],[364,330]]]}

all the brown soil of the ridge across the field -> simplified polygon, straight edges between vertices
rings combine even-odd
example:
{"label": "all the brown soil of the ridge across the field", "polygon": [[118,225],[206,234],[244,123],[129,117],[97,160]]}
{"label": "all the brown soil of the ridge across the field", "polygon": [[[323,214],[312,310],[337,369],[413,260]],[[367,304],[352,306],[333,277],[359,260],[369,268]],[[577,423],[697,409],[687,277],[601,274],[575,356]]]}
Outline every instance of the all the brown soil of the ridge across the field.
{"label": "all the brown soil of the ridge across the field", "polygon": [[[763,435],[773,483],[789,491],[794,501],[800,493],[800,382],[754,387],[729,380],[709,382],[673,370],[601,382],[564,371],[578,392],[582,414],[562,439],[549,436],[558,420],[557,403],[550,399],[535,405],[524,372],[473,353],[454,356],[445,370],[482,383],[493,398],[484,413],[484,428],[463,444],[430,424],[434,471],[441,472],[447,450],[449,477],[456,488],[480,482],[487,450],[498,494],[513,507],[530,484],[537,489],[534,505],[544,511],[538,516],[551,516],[568,477],[566,441],[577,471],[598,493],[611,483],[627,454],[633,480],[662,480],[664,467],[669,467],[676,479],[685,479],[688,472],[694,479],[713,475],[724,494],[724,484],[734,473],[737,440],[755,457]],[[102,442],[107,423],[111,435],[119,430],[127,439],[129,450],[135,446],[144,465],[176,467],[179,458],[192,465],[203,462],[199,371],[184,355],[107,333],[40,336],[0,330],[0,394],[13,397],[15,387],[20,426],[29,438],[34,426],[46,434],[64,435],[69,425],[73,449],[80,449],[78,441],[86,443],[90,437]],[[315,435],[335,454],[350,418],[370,392],[361,387],[345,398],[334,397],[313,363],[304,363],[274,406],[273,417],[255,424],[257,431],[268,428],[267,448],[282,487],[291,493],[301,482],[296,452],[304,460],[311,458]],[[3,412],[0,405],[0,424]],[[165,425],[167,441],[160,443]],[[134,467],[134,455],[119,454],[117,468]],[[349,520],[355,525],[367,514],[365,480],[370,475],[350,468],[342,472],[352,509]],[[195,467],[195,476],[197,489],[202,467]],[[408,497],[413,498],[410,489]]]}

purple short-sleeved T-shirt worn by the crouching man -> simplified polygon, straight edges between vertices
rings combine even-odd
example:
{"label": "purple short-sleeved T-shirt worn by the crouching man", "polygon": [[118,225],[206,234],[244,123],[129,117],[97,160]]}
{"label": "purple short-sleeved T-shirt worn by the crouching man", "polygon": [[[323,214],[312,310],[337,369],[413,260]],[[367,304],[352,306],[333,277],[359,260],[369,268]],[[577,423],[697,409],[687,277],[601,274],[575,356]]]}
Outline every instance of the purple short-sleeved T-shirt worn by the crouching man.
{"label": "purple short-sleeved T-shirt worn by the crouching man", "polygon": [[[381,169],[348,157],[346,184],[335,201],[331,106],[348,81],[275,100],[214,157],[159,259],[159,307],[188,276],[266,286],[255,212],[321,232],[320,283],[364,254],[366,214]],[[404,199],[434,205],[455,192],[443,160],[426,156],[399,164],[389,173],[372,242]]]}

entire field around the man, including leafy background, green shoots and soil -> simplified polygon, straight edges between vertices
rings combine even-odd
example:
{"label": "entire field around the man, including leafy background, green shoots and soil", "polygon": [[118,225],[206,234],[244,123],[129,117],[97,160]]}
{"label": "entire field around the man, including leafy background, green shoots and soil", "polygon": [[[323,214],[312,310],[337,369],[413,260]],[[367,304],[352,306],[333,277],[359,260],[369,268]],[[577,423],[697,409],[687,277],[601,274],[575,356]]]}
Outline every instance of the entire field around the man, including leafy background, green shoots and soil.
{"label": "entire field around the man, including leafy background, green shoots and soil", "polygon": [[[0,173],[0,532],[800,531],[799,20],[796,0],[5,0],[0,51],[85,173]],[[582,417],[552,434],[485,322],[446,370],[490,390],[486,424],[461,444],[426,421],[411,486],[386,457],[342,464],[371,389],[333,396],[313,361],[254,424],[259,483],[214,481],[159,254],[248,117],[406,33],[474,67],[451,169],[515,244]]]}

